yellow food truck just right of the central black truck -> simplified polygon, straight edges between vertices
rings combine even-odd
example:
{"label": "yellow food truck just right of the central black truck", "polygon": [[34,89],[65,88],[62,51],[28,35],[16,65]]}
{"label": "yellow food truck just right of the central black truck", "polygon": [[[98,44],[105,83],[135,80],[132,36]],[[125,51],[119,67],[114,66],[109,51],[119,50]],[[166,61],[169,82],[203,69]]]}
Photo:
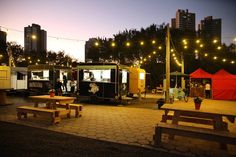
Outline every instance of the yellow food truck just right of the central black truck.
{"label": "yellow food truck just right of the central black truck", "polygon": [[146,71],[137,67],[129,68],[129,95],[137,94],[141,96],[141,93],[145,92],[145,79]]}

